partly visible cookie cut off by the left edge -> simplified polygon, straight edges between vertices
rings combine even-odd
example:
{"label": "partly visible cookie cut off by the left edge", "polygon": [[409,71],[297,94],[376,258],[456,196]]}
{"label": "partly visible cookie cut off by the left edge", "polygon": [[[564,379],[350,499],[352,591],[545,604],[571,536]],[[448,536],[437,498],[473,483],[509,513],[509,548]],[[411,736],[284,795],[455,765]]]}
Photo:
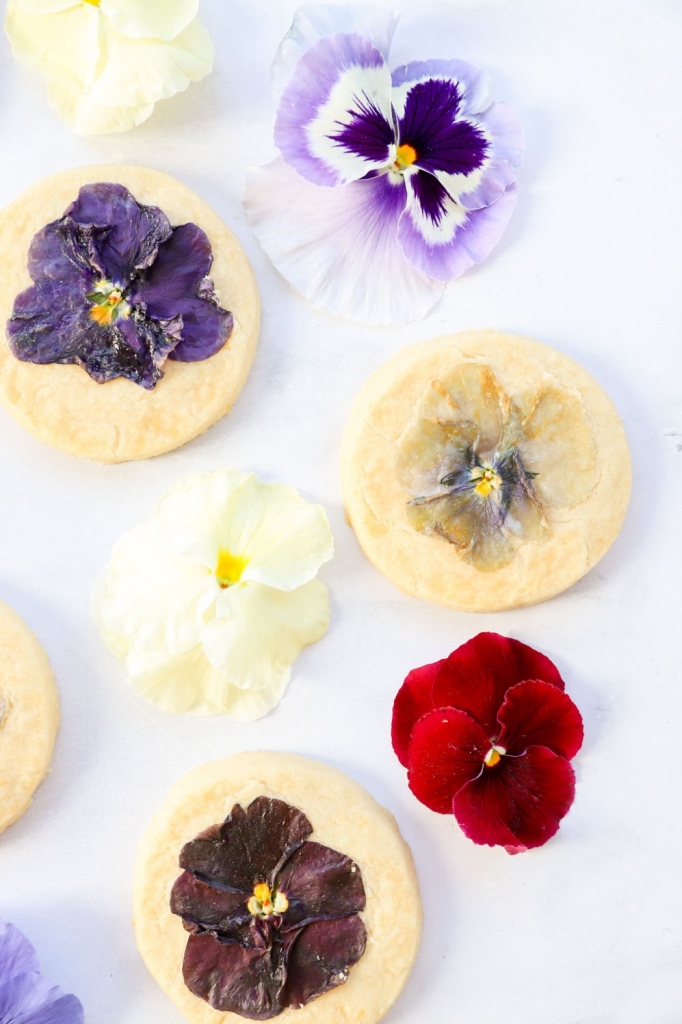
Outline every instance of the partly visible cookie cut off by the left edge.
{"label": "partly visible cookie cut off by the left edge", "polygon": [[30,807],[59,727],[54,677],[38,640],[0,602],[0,833]]}

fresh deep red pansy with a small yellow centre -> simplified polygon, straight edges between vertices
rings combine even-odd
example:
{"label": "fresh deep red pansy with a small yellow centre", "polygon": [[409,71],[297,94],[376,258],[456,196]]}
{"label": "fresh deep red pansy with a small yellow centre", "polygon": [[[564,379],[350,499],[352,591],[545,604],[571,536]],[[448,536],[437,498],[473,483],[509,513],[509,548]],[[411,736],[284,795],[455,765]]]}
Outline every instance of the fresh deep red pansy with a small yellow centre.
{"label": "fresh deep red pansy with a small yellow centre", "polygon": [[581,714],[552,662],[518,640],[479,633],[415,669],[391,732],[417,799],[474,843],[542,846],[573,802]]}

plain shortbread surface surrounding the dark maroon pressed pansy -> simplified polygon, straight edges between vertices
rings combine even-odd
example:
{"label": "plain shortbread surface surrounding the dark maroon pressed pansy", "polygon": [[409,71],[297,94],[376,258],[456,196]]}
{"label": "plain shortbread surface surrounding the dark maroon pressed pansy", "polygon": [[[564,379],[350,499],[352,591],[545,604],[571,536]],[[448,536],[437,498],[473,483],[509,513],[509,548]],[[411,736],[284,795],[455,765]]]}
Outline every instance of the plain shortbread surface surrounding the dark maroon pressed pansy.
{"label": "plain shortbread surface surrounding the dark maroon pressed pansy", "polygon": [[317,761],[292,754],[237,754],[179,779],[140,843],[134,902],[137,944],[147,968],[191,1024],[239,1024],[245,1018],[214,1010],[182,979],[187,933],[170,911],[182,846],[222,821],[236,803],[256,797],[286,801],[309,818],[317,843],[359,866],[367,906],[364,955],[348,980],[276,1018],[282,1024],[374,1024],[397,998],[417,953],[421,901],[410,849],[391,814],[357,782]]}

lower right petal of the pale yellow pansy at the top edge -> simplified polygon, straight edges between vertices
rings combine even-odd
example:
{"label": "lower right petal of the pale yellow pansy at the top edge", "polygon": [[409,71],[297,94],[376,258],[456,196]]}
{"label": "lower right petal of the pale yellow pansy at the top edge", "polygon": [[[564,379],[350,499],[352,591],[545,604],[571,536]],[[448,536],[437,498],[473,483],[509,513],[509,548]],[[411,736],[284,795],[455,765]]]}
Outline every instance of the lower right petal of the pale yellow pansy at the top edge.
{"label": "lower right petal of the pale yellow pansy at the top edge", "polygon": [[92,86],[103,106],[141,106],[181,92],[213,67],[213,44],[193,22],[175,39],[129,39],[113,27],[100,35],[101,60]]}

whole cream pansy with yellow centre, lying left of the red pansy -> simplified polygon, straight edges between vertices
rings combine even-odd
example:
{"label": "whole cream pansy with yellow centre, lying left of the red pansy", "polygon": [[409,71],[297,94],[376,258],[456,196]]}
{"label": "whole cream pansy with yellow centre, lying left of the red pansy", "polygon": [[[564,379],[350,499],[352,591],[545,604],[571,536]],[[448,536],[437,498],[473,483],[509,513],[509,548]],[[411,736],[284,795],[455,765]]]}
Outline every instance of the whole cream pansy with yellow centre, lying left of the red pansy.
{"label": "whole cream pansy with yellow centre, lying left of the red pansy", "polygon": [[293,487],[191,476],[116,544],[93,615],[133,688],[165,711],[260,718],[327,632],[314,577],[333,549],[324,509]]}

